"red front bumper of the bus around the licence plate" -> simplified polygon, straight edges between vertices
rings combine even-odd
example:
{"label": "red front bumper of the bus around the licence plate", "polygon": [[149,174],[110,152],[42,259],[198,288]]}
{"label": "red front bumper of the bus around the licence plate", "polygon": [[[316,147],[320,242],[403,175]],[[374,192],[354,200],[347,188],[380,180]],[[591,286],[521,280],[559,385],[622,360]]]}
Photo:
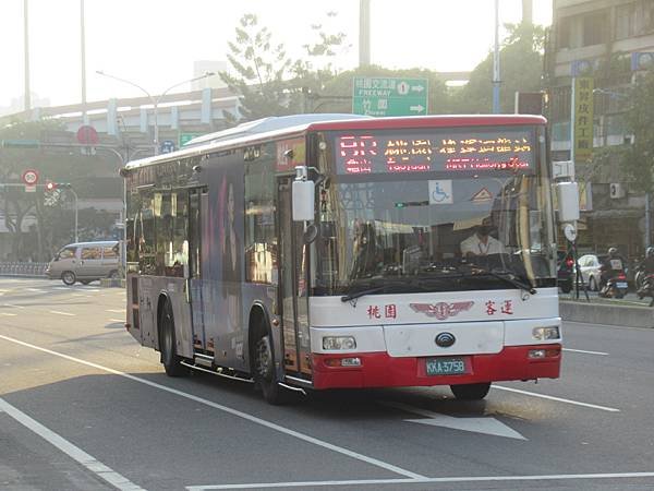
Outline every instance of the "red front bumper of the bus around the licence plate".
{"label": "red front bumper of the bus around the licence plate", "polygon": [[[511,380],[558,379],[561,345],[507,346],[494,355],[461,356],[467,373],[427,375],[428,357],[390,357],[387,352],[313,355],[314,388],[408,387],[474,384]],[[359,366],[352,366],[359,360]],[[341,364],[348,364],[343,367]]]}

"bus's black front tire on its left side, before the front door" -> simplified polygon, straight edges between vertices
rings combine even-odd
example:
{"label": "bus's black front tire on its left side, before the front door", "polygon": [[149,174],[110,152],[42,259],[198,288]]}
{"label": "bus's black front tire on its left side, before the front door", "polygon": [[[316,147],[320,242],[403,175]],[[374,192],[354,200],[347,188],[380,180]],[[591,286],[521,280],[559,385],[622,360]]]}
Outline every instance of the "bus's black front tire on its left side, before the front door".
{"label": "bus's black front tire on its left side, before the front door", "polygon": [[252,334],[255,336],[251,357],[254,382],[262,390],[266,402],[272,405],[284,404],[288,402],[288,393],[277,383],[270,332],[265,326],[259,326]]}

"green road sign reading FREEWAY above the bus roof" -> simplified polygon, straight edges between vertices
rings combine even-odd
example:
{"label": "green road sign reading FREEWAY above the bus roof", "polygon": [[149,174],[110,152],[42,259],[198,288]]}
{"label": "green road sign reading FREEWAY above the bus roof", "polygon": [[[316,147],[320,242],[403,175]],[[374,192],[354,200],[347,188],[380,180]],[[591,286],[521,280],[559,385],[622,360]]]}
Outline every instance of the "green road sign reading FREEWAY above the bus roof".
{"label": "green road sign reading FREEWAY above the bus roof", "polygon": [[355,76],[352,81],[352,112],[366,116],[425,116],[429,81]]}

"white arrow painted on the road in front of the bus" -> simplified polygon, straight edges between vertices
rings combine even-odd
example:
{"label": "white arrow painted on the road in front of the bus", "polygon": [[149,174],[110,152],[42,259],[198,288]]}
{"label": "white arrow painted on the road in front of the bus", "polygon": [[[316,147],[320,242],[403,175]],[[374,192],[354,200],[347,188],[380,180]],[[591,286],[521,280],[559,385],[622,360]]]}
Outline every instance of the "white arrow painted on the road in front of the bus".
{"label": "white arrow painted on the road in front of the bus", "polygon": [[452,430],[470,431],[473,433],[492,434],[495,436],[504,436],[507,439],[526,440],[516,430],[507,427],[505,423],[496,420],[493,417],[485,418],[455,418],[452,416],[439,415],[426,409],[420,409],[402,403],[382,402],[384,406],[395,407],[414,415],[425,416],[429,419],[405,419],[407,422],[415,422],[427,424],[431,427],[450,428]]}

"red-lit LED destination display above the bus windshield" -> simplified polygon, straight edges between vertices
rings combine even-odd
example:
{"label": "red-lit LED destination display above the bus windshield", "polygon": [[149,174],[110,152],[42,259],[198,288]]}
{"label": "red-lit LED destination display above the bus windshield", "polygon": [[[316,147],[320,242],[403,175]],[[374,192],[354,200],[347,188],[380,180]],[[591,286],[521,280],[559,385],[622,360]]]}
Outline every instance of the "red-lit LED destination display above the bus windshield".
{"label": "red-lit LED destination display above the bus windshield", "polygon": [[346,175],[502,171],[533,166],[528,130],[350,133],[337,135],[335,145],[337,172]]}

